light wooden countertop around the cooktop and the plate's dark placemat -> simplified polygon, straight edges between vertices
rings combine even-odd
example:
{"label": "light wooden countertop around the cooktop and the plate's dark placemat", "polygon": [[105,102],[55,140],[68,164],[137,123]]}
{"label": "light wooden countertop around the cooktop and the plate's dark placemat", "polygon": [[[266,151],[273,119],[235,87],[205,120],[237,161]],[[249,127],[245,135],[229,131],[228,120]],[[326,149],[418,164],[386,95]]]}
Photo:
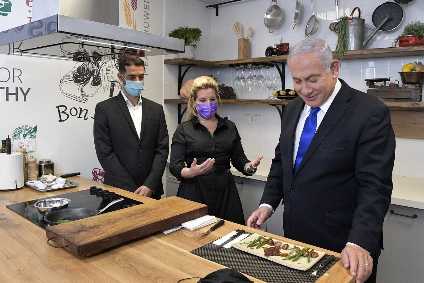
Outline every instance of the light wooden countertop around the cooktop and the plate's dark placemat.
{"label": "light wooden countertop around the cooktop and the plate's dark placemat", "polygon": [[[5,206],[82,190],[91,185],[106,188],[144,203],[156,200],[93,183],[81,177],[73,177],[72,180],[79,182],[80,186],[49,193],[40,193],[30,188],[0,191],[1,282],[177,282],[183,278],[203,277],[223,266],[192,255],[191,250],[237,228],[254,231],[226,221],[224,226],[203,238],[186,230],[170,235],[156,234],[93,257],[80,259],[63,249],[49,246],[43,229]],[[275,235],[273,237],[281,238]],[[197,282],[197,280],[186,282]],[[317,282],[351,282],[351,277],[338,262]]]}

